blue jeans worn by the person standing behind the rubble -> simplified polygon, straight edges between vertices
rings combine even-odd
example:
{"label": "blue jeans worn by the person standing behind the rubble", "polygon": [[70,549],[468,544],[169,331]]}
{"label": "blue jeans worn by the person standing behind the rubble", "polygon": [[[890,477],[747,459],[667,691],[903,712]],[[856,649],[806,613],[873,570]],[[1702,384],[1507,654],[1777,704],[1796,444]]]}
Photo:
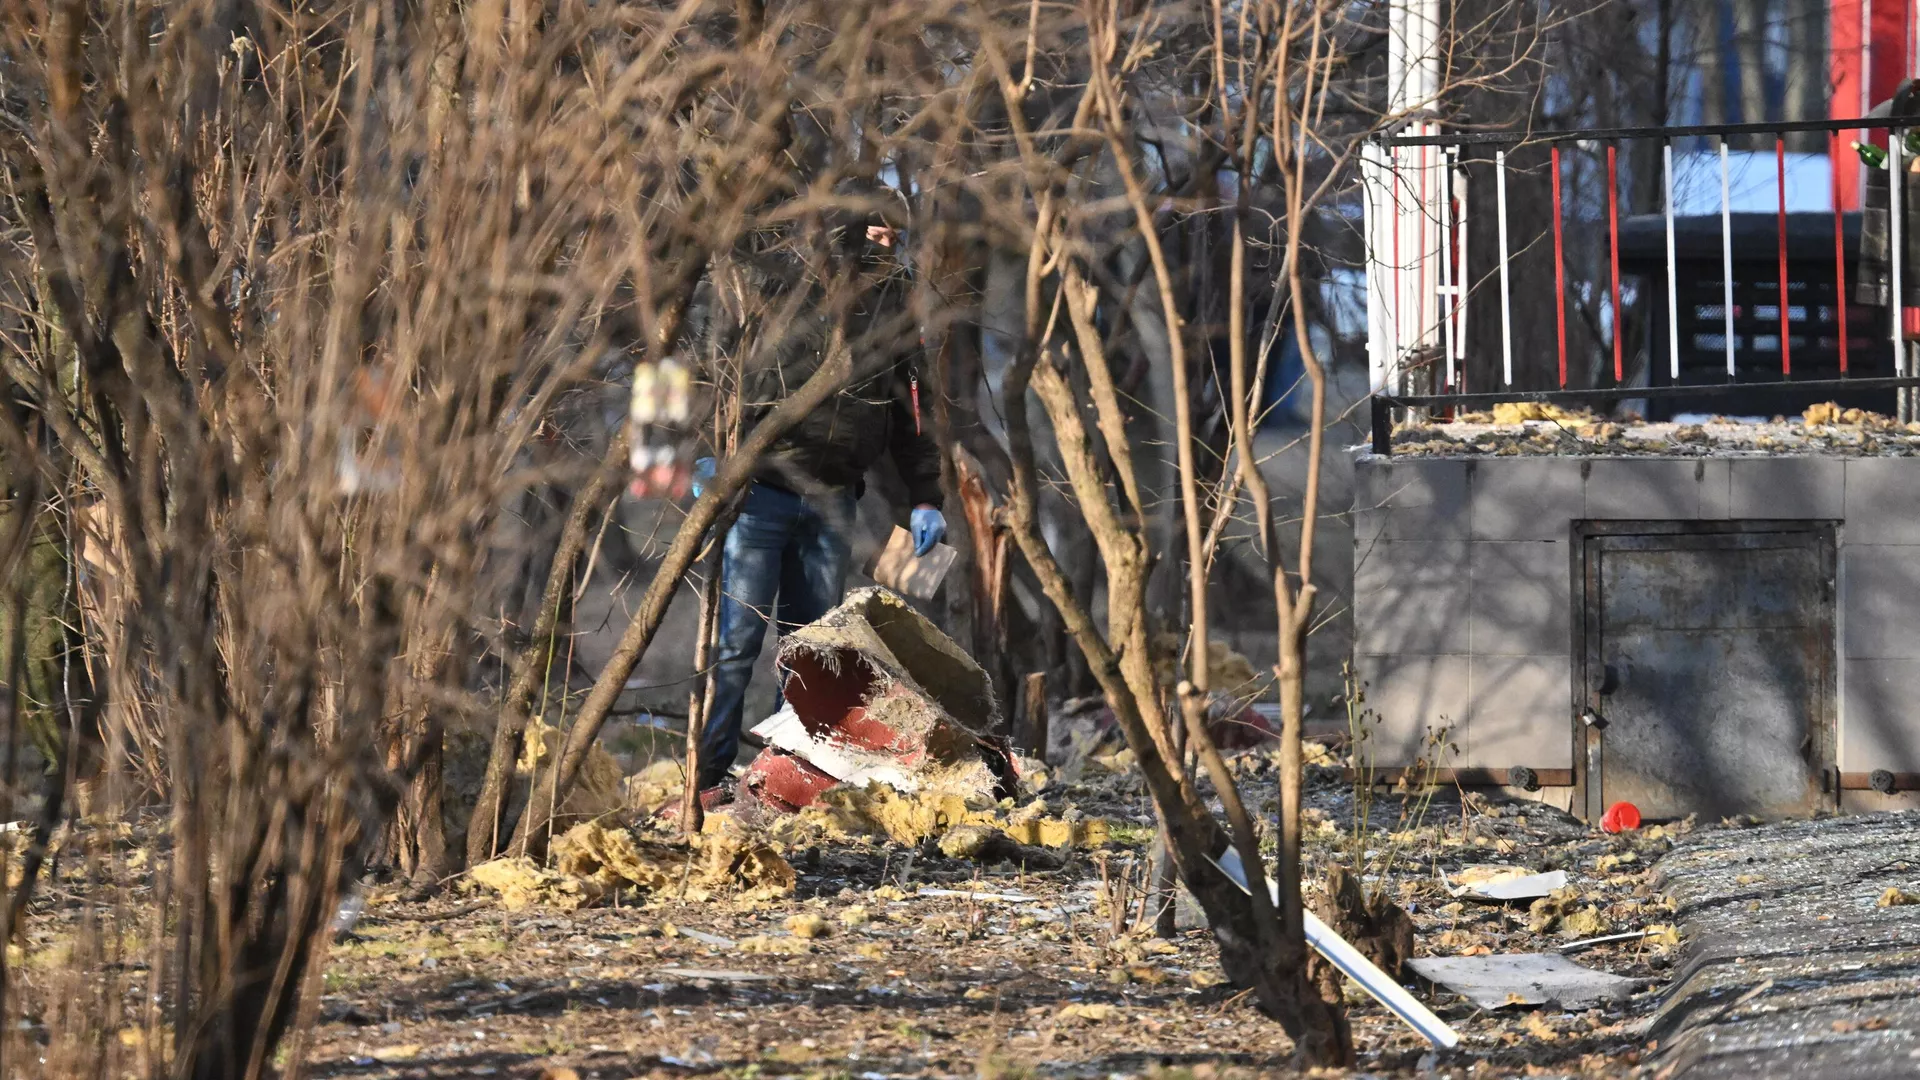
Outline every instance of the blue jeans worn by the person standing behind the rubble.
{"label": "blue jeans worn by the person standing behind the rubble", "polygon": [[[720,565],[714,696],[701,732],[701,788],[712,788],[739,753],[739,721],[766,626],[785,634],[841,601],[852,548],[852,490],[801,498],[772,484],[747,488]],[[776,698],[778,701],[778,698]]]}

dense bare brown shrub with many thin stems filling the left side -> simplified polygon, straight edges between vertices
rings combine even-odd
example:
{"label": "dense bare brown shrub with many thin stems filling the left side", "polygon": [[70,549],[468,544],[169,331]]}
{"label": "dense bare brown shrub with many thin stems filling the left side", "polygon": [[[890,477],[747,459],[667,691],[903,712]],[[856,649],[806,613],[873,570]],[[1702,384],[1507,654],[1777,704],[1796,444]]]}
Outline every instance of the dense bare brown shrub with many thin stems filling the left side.
{"label": "dense bare brown shrub with many thin stems filling the left side", "polygon": [[[0,275],[19,300],[0,459],[23,507],[4,565],[21,582],[21,530],[54,523],[69,552],[102,553],[63,596],[108,596],[36,849],[73,811],[75,769],[96,809],[123,813],[157,776],[171,847],[138,919],[156,928],[157,1011],[129,1020],[156,1032],[142,1053],[173,1047],[165,1072],[278,1068],[353,878],[382,859],[419,884],[457,865],[442,732],[497,711],[493,763],[516,757],[540,638],[620,475],[620,384],[678,348],[710,267],[778,263],[787,300],[758,350],[845,321],[856,290],[829,215],[860,209],[841,181],[883,167],[852,135],[900,90],[870,71],[874,42],[912,42],[918,17],[862,8],[48,0],[0,15]],[[756,450],[870,344],[828,350],[687,511],[566,771]],[[522,559],[501,507],[547,482],[582,490],[532,632],[513,630],[499,600]],[[482,655],[507,659],[503,700]],[[13,692],[31,686],[19,669]],[[25,713],[10,711],[15,734]],[[499,773],[468,855],[499,840]],[[15,920],[33,882],[10,897]],[[35,1059],[117,1074],[86,1034],[117,1020],[100,1022]],[[8,1074],[33,1070],[19,1040],[8,1024]]]}

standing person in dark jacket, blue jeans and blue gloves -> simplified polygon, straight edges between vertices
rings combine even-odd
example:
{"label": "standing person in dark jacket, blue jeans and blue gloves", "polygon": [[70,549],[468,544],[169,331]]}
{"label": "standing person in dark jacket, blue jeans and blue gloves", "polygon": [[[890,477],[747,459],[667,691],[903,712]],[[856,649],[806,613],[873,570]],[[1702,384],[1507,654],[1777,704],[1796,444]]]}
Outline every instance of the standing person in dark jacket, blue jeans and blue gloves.
{"label": "standing person in dark jacket, blue jeans and blue gloves", "polygon": [[[891,455],[906,480],[916,555],[947,538],[941,455],[920,419],[918,332],[910,323],[904,323],[904,332],[891,334],[893,340],[879,332],[906,311],[906,279],[895,258],[895,233],[870,223],[864,238],[847,240],[852,240],[860,275],[860,298],[847,329],[854,382],[774,442],[756,465],[726,536],[714,690],[699,749],[703,803],[726,798],[720,784],[739,753],[741,707],[768,623],[785,634],[820,619],[845,596],[852,561],[849,534],[868,467]],[[900,348],[900,338],[912,344]],[[808,340],[808,348],[780,350],[778,361],[749,375],[749,423],[826,359],[828,334]],[[862,356],[862,350],[868,354]],[[893,356],[872,356],[874,350]],[[695,494],[703,480],[712,479],[714,467],[712,457],[695,463]]]}

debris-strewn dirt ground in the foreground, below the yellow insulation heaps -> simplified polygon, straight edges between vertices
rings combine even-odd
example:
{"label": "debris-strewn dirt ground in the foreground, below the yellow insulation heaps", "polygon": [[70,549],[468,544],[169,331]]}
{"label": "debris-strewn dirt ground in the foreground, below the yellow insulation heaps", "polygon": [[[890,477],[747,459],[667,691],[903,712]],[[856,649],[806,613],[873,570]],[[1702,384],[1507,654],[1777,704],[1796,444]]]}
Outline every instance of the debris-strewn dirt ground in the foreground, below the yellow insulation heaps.
{"label": "debris-strewn dirt ground in the foreground, below the yellow insulation heaps", "polygon": [[[1236,767],[1256,805],[1271,807],[1271,763],[1252,751]],[[376,890],[328,959],[311,1074],[564,1076],[572,1068],[603,1078],[872,1080],[1284,1070],[1290,1042],[1244,995],[1219,986],[1206,930],[1173,940],[1116,934],[1125,919],[1114,917],[1110,894],[1119,886],[1102,880],[1140,865],[1150,834],[1133,780],[1096,774],[1041,796],[1054,809],[1106,817],[1114,840],[1050,872],[945,859],[931,846],[808,846],[789,851],[795,892],[751,903],[634,896],[582,911],[505,911],[486,896],[397,903]],[[1668,919],[1645,878],[1670,844],[1667,830],[1603,836],[1538,803],[1380,794],[1361,799],[1371,822],[1357,844],[1356,799],[1340,773],[1315,769],[1309,801],[1315,863],[1365,851],[1369,884],[1384,882],[1411,911],[1417,955],[1548,951]],[[1436,872],[1473,863],[1567,869],[1576,896],[1557,903],[1563,915],[1553,924],[1546,924],[1553,913],[1534,917],[1524,905],[1452,899]],[[803,915],[818,919],[793,919]],[[1645,980],[1624,1007],[1482,1013],[1452,994],[1427,994],[1465,1038],[1446,1059],[1432,1059],[1423,1040],[1350,990],[1359,1067],[1630,1074],[1642,1047],[1636,1022],[1655,1005],[1670,942],[1657,934],[1576,953],[1584,965]]]}

